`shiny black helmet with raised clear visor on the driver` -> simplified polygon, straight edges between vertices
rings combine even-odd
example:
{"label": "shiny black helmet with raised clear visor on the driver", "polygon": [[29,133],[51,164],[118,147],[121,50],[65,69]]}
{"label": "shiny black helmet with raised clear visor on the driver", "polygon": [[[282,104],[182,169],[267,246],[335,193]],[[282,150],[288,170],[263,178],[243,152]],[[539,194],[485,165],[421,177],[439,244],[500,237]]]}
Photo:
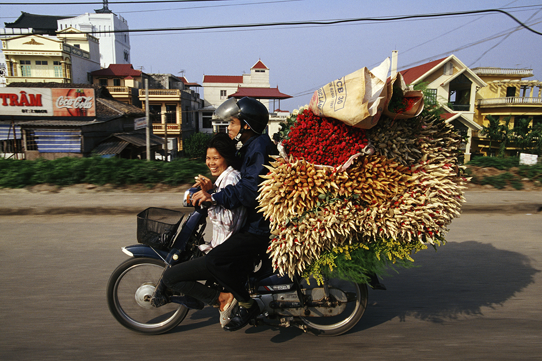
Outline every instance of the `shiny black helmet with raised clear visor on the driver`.
{"label": "shiny black helmet with raised clear visor on the driver", "polygon": [[236,117],[247,123],[257,134],[262,134],[269,122],[269,111],[266,106],[247,96],[238,101],[234,98],[228,99],[215,110],[215,115],[224,121]]}

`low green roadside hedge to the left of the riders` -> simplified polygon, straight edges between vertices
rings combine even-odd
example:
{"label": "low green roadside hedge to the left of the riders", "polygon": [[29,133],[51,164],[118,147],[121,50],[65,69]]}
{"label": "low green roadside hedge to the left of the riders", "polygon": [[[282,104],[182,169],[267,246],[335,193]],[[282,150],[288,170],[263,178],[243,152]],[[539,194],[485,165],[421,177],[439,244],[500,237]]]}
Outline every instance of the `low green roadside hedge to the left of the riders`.
{"label": "low green roadside hedge to the left of the riders", "polygon": [[197,174],[207,174],[201,161],[178,159],[172,162],[122,158],[73,158],[55,160],[0,159],[0,187],[22,188],[41,183],[67,186],[77,183],[115,186],[189,183]]}

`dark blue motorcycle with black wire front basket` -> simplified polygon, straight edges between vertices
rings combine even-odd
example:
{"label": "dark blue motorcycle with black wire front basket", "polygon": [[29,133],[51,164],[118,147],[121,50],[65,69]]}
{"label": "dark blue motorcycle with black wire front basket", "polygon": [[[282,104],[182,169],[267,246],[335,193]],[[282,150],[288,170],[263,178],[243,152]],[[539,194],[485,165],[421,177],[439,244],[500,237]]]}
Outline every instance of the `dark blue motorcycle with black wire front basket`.
{"label": "dark blue motorcycle with black wire front basket", "polygon": [[[185,192],[184,206],[192,206],[191,194],[196,191]],[[198,246],[204,243],[205,206],[209,205],[195,207],[180,231],[182,212],[147,208],[138,214],[139,243],[122,247],[130,258],[113,271],[107,284],[109,311],[122,326],[143,334],[160,334],[184,320],[189,309],[175,303],[175,297],[158,308],[150,300],[166,267],[203,254]],[[307,283],[299,276],[281,276],[262,262],[259,266],[247,280],[249,294],[261,310],[251,325],[295,326],[317,336],[337,336],[355,326],[365,312],[366,284],[324,278],[318,285],[314,279]]]}

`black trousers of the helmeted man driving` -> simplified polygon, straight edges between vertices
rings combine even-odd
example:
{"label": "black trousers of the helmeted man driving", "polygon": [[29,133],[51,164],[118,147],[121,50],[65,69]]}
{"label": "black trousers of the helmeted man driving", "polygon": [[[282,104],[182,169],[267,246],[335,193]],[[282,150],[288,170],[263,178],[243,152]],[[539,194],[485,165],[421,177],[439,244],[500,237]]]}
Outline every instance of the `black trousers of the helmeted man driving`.
{"label": "black trousers of the helmeted man driving", "polygon": [[260,256],[269,260],[266,255],[269,235],[236,233],[205,255],[207,270],[238,301],[250,300],[246,284],[254,270],[254,261]]}

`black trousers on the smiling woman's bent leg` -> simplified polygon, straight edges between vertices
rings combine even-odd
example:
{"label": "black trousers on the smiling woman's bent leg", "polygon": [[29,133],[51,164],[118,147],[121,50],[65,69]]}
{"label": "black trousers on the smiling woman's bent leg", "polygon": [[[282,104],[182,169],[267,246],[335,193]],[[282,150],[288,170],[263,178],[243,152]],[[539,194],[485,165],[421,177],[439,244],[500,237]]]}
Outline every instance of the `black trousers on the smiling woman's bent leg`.
{"label": "black trousers on the smiling woman's bent leg", "polygon": [[162,275],[163,283],[173,291],[192,296],[208,305],[214,305],[220,292],[198,282],[213,279],[213,275],[205,266],[206,257],[199,257],[167,268]]}

